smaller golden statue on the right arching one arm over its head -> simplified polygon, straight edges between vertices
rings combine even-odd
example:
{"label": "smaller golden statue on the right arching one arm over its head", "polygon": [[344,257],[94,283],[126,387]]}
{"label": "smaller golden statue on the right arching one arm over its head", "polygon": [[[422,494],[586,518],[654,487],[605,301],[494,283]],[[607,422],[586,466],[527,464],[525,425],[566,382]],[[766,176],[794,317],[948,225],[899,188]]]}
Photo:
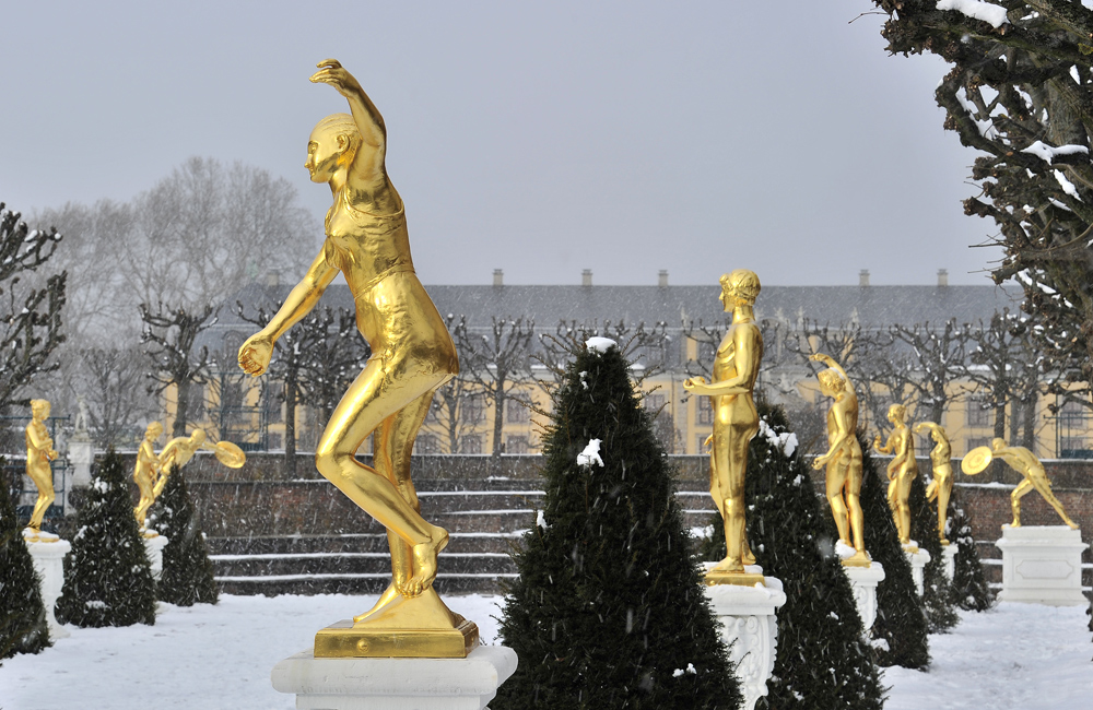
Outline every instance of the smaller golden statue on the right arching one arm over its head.
{"label": "smaller golden statue on the right arching one arm over its head", "polygon": [[847,567],[869,567],[872,561],[866,552],[862,532],[865,516],[861,512],[861,446],[857,436],[858,395],[846,370],[832,357],[815,353],[809,359],[827,366],[816,377],[824,397],[835,400],[827,412],[827,452],[816,457],[812,468],[827,466],[827,502],[835,517],[838,539],[855,551],[843,564]]}

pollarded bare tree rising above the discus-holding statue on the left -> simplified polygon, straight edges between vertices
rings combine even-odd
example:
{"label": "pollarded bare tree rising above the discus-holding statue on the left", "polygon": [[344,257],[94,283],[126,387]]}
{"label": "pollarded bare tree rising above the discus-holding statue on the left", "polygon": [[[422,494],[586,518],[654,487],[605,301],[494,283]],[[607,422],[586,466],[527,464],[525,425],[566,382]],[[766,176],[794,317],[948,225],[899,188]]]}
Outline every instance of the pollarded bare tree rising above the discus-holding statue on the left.
{"label": "pollarded bare tree rising above the discus-holding statue on the left", "polygon": [[141,340],[153,364],[149,377],[154,383],[149,387],[149,392],[162,394],[168,387],[175,386],[177,403],[172,436],[186,436],[190,388],[209,381],[212,364],[209,348],[201,346],[195,350],[195,344],[198,335],[215,324],[214,313],[212,306],[190,312],[185,307],[164,307],[161,303],[153,312],[148,304],[140,305],[140,317],[144,323]]}

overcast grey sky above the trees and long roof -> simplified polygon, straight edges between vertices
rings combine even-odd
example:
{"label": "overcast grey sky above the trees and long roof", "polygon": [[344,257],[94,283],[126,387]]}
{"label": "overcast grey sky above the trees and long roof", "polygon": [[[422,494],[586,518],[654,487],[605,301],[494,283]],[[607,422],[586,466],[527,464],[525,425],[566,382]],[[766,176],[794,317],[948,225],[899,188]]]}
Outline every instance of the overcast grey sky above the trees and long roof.
{"label": "overcast grey sky above the trees and long roof", "polygon": [[287,178],[318,225],[307,135],[345,104],[307,78],[334,57],[387,120],[425,283],[989,283],[944,64],[889,57],[880,16],[850,23],[872,7],[8,3],[0,200],[128,200],[203,155]]}

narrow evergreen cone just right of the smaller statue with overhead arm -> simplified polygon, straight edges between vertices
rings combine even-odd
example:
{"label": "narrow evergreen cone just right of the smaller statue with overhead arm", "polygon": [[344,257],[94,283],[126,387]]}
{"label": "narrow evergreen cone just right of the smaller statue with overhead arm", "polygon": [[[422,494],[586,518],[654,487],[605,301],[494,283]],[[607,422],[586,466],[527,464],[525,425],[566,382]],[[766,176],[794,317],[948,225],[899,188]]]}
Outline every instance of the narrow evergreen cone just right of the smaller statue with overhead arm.
{"label": "narrow evergreen cone just right of the smaller statue with overhead arm", "polygon": [[886,480],[882,483],[868,441],[859,431],[862,451],[861,511],[866,520],[866,549],[884,566],[884,580],[877,585],[877,620],[872,643],[880,665],[925,668],[930,664],[926,614],[910,575],[910,563],[900,545],[900,534],[889,508]]}

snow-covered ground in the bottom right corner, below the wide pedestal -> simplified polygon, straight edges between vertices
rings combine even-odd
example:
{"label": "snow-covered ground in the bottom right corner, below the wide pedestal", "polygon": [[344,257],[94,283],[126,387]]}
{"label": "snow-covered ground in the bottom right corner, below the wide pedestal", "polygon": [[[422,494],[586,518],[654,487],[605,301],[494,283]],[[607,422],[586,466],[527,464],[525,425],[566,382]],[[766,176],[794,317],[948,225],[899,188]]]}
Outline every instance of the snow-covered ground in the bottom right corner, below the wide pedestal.
{"label": "snow-covered ground in the bottom right corner, below the wide pedestal", "polygon": [[1084,606],[1003,602],[961,612],[952,634],[930,637],[929,673],[886,668],[885,710],[1093,708],[1093,642]]}

